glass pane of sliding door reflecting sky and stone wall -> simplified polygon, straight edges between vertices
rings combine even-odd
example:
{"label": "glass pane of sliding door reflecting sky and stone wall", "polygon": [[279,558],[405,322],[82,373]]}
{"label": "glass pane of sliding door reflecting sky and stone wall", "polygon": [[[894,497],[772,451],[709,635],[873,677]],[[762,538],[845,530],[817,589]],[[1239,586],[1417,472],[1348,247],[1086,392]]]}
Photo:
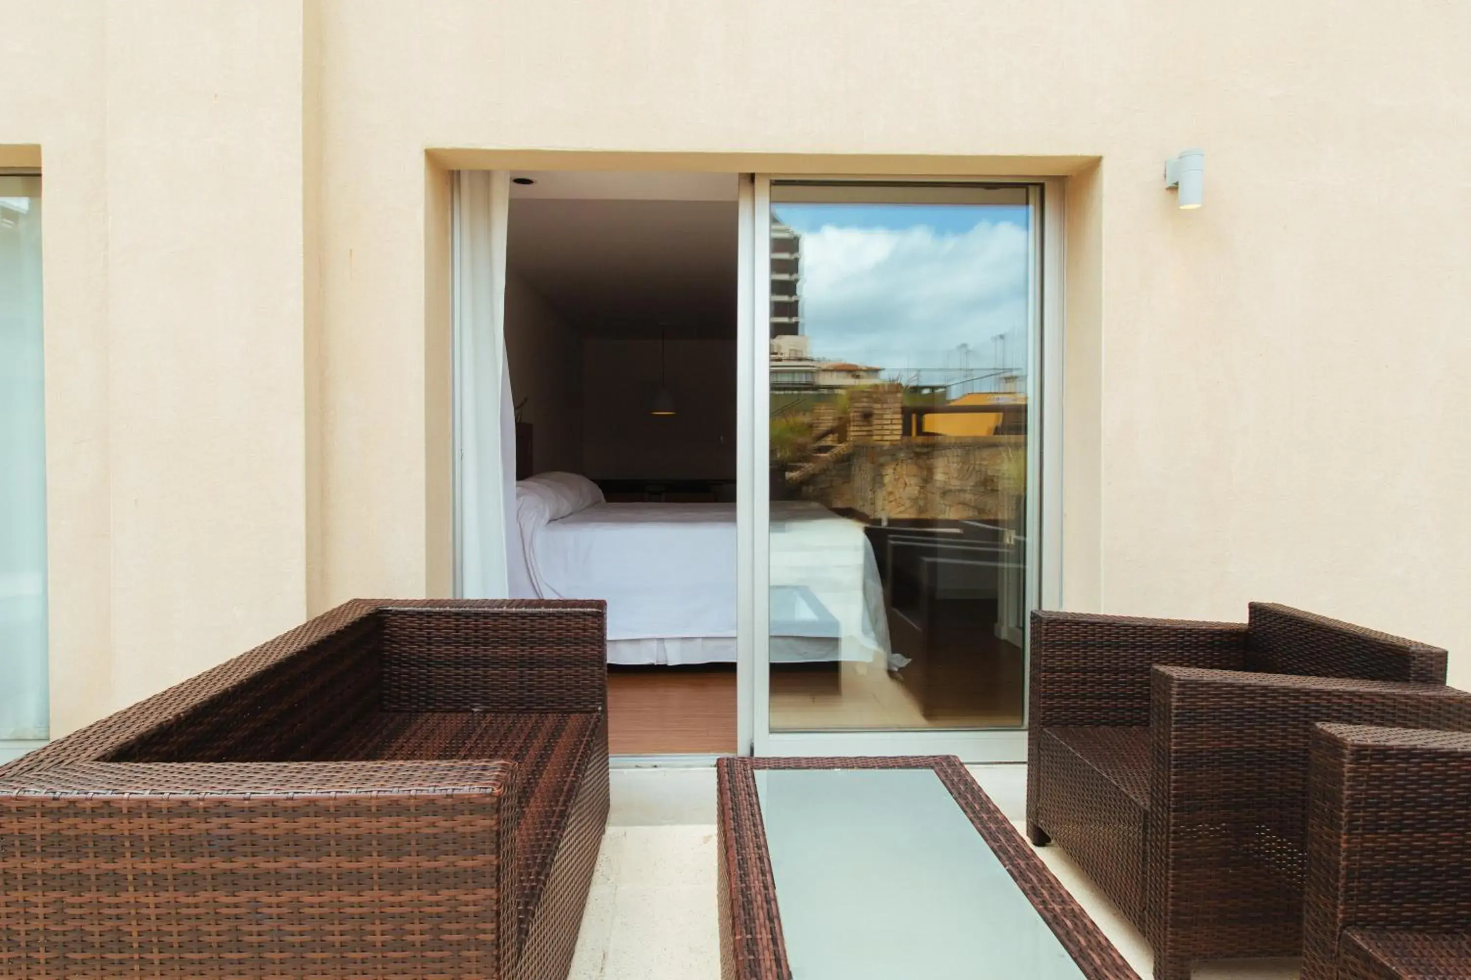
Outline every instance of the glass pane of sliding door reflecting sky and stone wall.
{"label": "glass pane of sliding door reflecting sky and stone wall", "polygon": [[769,730],[1019,727],[1036,190],[772,181],[766,206]]}

